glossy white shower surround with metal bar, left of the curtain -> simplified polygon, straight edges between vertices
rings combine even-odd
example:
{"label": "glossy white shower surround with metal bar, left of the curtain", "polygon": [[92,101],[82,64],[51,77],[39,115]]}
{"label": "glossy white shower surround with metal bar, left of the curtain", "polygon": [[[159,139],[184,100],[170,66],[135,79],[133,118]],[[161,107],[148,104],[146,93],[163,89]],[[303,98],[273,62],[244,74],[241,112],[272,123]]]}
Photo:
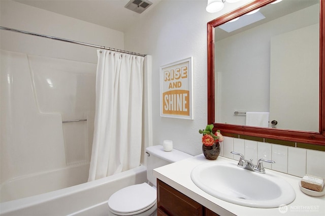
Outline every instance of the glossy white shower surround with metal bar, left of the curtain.
{"label": "glossy white shower surround with metal bar, left of the curtain", "polygon": [[95,74],[94,63],[1,50],[1,202],[87,181]]}

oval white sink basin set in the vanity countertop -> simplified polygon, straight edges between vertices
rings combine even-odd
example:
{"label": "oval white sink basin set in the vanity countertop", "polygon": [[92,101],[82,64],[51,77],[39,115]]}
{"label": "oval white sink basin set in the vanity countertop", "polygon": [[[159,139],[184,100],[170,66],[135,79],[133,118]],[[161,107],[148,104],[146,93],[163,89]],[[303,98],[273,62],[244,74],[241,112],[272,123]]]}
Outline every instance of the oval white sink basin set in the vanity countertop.
{"label": "oval white sink basin set in the vanity countertop", "polygon": [[296,198],[291,185],[272,174],[259,174],[232,163],[208,162],[193,168],[191,179],[206,193],[238,205],[273,208]]}

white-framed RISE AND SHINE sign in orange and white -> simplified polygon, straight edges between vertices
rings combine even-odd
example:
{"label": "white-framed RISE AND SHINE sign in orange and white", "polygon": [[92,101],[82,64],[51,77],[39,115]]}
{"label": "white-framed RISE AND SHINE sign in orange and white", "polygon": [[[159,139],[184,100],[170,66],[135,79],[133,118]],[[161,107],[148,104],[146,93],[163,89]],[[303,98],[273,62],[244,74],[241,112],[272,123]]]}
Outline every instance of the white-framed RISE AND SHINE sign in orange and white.
{"label": "white-framed RISE AND SHINE sign in orange and white", "polygon": [[193,57],[160,67],[160,116],[193,119]]}

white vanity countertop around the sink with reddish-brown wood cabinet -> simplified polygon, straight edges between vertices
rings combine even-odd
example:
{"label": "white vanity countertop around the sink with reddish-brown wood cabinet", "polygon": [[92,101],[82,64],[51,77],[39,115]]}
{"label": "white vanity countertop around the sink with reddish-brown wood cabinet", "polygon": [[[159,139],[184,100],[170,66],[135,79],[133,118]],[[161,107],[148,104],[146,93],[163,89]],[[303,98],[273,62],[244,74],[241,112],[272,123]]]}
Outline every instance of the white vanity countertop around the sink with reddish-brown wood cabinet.
{"label": "white vanity countertop around the sink with reddish-brown wood cabinet", "polygon": [[211,196],[197,187],[190,175],[198,165],[218,162],[237,166],[235,160],[220,156],[217,160],[207,160],[201,154],[154,169],[153,175],[157,178],[157,215],[325,215],[325,196],[308,196],[300,190],[301,178],[270,169],[266,169],[267,174],[284,179],[294,188],[296,198],[293,202],[281,207],[258,208]]}

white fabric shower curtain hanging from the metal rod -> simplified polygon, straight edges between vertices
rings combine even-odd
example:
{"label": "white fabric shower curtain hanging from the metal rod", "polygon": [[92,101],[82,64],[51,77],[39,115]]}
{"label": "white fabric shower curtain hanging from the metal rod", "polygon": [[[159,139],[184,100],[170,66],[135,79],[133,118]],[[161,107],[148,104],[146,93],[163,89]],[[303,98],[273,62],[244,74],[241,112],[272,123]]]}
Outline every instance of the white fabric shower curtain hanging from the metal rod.
{"label": "white fabric shower curtain hanging from the metal rod", "polygon": [[140,165],[144,57],[99,50],[88,181]]}

